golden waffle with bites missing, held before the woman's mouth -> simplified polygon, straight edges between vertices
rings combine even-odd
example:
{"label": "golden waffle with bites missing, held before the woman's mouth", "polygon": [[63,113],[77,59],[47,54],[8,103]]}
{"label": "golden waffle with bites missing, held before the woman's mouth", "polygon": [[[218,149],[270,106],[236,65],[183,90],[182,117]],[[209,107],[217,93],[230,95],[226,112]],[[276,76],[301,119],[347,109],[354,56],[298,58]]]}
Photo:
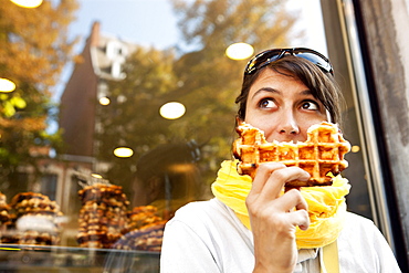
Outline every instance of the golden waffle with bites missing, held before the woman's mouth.
{"label": "golden waffle with bites missing, held before the woman's mouth", "polygon": [[350,144],[332,123],[311,126],[306,141],[296,144],[269,143],[264,132],[245,123],[240,123],[237,132],[240,137],[233,143],[233,155],[240,160],[240,175],[254,178],[261,162],[280,161],[287,167],[297,166],[311,175],[307,181],[290,181],[286,187],[329,186],[332,177],[328,172],[336,176],[348,167],[344,155],[350,150]]}

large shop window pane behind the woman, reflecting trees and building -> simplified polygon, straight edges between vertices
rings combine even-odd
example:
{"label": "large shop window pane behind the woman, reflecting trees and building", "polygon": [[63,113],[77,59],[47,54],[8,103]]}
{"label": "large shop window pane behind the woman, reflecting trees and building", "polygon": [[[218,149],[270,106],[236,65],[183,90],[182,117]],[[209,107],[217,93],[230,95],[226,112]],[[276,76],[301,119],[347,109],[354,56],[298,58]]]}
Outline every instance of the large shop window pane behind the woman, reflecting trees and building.
{"label": "large shop window pane behind the woman, reflecting trees and building", "polygon": [[[228,46],[327,55],[321,3],[304,3],[44,0],[24,9],[6,1],[0,77],[17,87],[0,94],[2,243],[78,253],[69,260],[80,267],[104,264],[103,252],[85,259],[84,249],[158,253],[166,221],[211,198],[220,164],[232,158],[234,99],[250,56],[229,59]],[[348,171],[364,180],[356,155]],[[365,214],[359,187],[350,209]],[[39,218],[19,230],[31,210]],[[51,228],[39,234],[44,216]]]}

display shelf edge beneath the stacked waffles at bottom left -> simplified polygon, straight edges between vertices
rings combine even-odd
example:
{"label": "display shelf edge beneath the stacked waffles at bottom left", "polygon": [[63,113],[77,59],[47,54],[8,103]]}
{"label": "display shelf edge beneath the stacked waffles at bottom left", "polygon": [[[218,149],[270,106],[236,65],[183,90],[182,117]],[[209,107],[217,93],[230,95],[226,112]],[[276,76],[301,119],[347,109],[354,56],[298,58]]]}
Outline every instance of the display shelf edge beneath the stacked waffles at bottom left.
{"label": "display shelf edge beneath the stacked waffles at bottom left", "polygon": [[159,272],[158,252],[0,244],[3,272]]}

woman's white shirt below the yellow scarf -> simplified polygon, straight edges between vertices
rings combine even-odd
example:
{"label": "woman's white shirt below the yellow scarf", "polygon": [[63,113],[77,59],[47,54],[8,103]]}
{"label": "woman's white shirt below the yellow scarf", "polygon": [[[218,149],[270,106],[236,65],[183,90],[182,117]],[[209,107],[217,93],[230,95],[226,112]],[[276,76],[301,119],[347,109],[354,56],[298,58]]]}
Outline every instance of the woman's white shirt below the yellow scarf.
{"label": "woman's white shirt below the yellow scarf", "polygon": [[[340,272],[400,272],[389,244],[375,224],[347,213],[339,234]],[[318,250],[300,250],[294,272],[319,272]],[[253,235],[218,199],[180,208],[165,229],[160,272],[252,272]]]}

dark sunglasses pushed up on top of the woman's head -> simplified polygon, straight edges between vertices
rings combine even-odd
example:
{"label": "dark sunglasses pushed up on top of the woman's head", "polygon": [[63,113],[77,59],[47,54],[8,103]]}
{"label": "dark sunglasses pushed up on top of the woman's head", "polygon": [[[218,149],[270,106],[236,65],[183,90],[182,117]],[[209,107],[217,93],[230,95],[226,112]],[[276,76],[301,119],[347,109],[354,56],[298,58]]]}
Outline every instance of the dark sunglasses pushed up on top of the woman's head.
{"label": "dark sunglasses pushed up on top of the woman's head", "polygon": [[244,70],[244,75],[251,75],[255,71],[286,55],[293,55],[308,60],[310,62],[317,65],[325,73],[331,73],[332,75],[334,75],[334,70],[329,63],[329,60],[319,52],[306,48],[274,49],[263,51],[249,61]]}

